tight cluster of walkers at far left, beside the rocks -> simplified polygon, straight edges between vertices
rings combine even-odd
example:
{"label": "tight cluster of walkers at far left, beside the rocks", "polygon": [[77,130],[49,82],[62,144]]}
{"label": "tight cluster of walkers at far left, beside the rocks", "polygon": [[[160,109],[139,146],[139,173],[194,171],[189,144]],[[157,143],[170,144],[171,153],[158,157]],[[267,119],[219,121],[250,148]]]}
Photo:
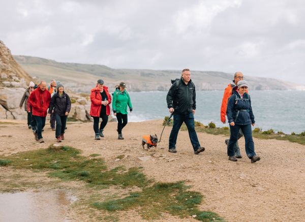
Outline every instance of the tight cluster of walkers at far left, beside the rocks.
{"label": "tight cluster of walkers at far left, beside the rocks", "polygon": [[[50,115],[50,126],[55,131],[57,142],[65,139],[67,117],[71,109],[71,100],[59,81],[52,80],[47,88],[45,81],[39,85],[30,82],[20,101],[27,112],[28,129],[32,129],[36,141],[43,143],[42,132],[46,116]],[[56,128],[55,128],[56,121]]]}

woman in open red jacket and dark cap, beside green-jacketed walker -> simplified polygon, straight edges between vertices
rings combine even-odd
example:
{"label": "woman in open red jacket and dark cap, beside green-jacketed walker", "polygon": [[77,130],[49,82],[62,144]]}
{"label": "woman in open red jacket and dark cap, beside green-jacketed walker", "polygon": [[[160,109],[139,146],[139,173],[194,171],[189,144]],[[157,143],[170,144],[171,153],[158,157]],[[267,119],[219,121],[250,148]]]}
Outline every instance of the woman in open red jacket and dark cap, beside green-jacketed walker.
{"label": "woman in open red jacket and dark cap, beside green-jacketed walker", "polygon": [[[104,81],[99,79],[97,86],[91,89],[90,93],[91,107],[90,116],[93,117],[93,129],[95,132],[95,139],[100,140],[100,136],[104,137],[103,131],[108,122],[108,116],[110,115],[111,97],[108,91],[108,87],[104,86]],[[100,118],[102,122],[99,128]]]}

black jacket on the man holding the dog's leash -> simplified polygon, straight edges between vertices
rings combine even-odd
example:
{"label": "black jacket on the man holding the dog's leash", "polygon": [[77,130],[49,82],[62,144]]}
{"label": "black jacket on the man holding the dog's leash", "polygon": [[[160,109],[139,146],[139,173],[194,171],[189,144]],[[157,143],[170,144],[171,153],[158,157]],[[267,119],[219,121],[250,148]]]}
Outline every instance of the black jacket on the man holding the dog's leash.
{"label": "black jacket on the man holding the dog's leash", "polygon": [[187,114],[193,112],[193,109],[196,109],[196,92],[194,83],[190,80],[190,82],[186,84],[182,77],[179,80],[178,87],[177,82],[178,81],[175,81],[172,84],[167,93],[167,107],[174,108],[175,114]]}

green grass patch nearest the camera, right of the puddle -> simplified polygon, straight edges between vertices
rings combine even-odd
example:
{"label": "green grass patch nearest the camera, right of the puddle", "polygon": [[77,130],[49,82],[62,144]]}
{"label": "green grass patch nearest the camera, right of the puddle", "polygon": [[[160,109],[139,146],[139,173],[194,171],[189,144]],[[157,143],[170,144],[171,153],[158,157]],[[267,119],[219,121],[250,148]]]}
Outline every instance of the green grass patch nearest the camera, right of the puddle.
{"label": "green grass patch nearest the camera, right of the puddle", "polygon": [[186,218],[196,215],[195,219],[201,221],[224,221],[214,212],[200,211],[198,205],[202,195],[198,192],[188,191],[184,182],[155,183],[144,187],[142,192],[131,193],[128,197],[95,202],[92,205],[97,209],[107,211],[136,209],[143,218],[151,220],[160,218],[162,213]]}

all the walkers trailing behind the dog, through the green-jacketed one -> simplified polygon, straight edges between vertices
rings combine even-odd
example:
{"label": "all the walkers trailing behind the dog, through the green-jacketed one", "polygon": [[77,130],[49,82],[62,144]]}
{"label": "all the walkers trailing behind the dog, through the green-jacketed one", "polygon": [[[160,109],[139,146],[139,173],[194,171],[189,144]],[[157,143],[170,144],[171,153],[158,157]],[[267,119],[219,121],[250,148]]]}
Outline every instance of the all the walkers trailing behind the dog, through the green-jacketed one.
{"label": "all the walkers trailing behind the dog, through the green-jacketed one", "polygon": [[[127,106],[132,112],[132,104],[126,84],[120,82],[115,86],[113,99],[108,91],[108,87],[104,85],[104,81],[99,79],[96,87],[90,93],[91,107],[90,116],[93,117],[93,128],[95,131],[95,139],[100,140],[104,137],[103,131],[108,122],[110,115],[110,104],[112,101],[112,110],[117,118],[118,139],[123,140],[122,130],[128,122]],[[69,95],[64,91],[64,86],[59,81],[51,80],[47,87],[45,81],[41,81],[39,85],[30,82],[20,101],[20,108],[24,103],[27,112],[28,129],[33,129],[35,140],[43,143],[42,132],[46,122],[46,116],[50,116],[50,126],[55,131],[57,142],[65,139],[65,130],[67,117],[71,110],[71,100]],[[100,118],[102,118],[99,126]]]}

